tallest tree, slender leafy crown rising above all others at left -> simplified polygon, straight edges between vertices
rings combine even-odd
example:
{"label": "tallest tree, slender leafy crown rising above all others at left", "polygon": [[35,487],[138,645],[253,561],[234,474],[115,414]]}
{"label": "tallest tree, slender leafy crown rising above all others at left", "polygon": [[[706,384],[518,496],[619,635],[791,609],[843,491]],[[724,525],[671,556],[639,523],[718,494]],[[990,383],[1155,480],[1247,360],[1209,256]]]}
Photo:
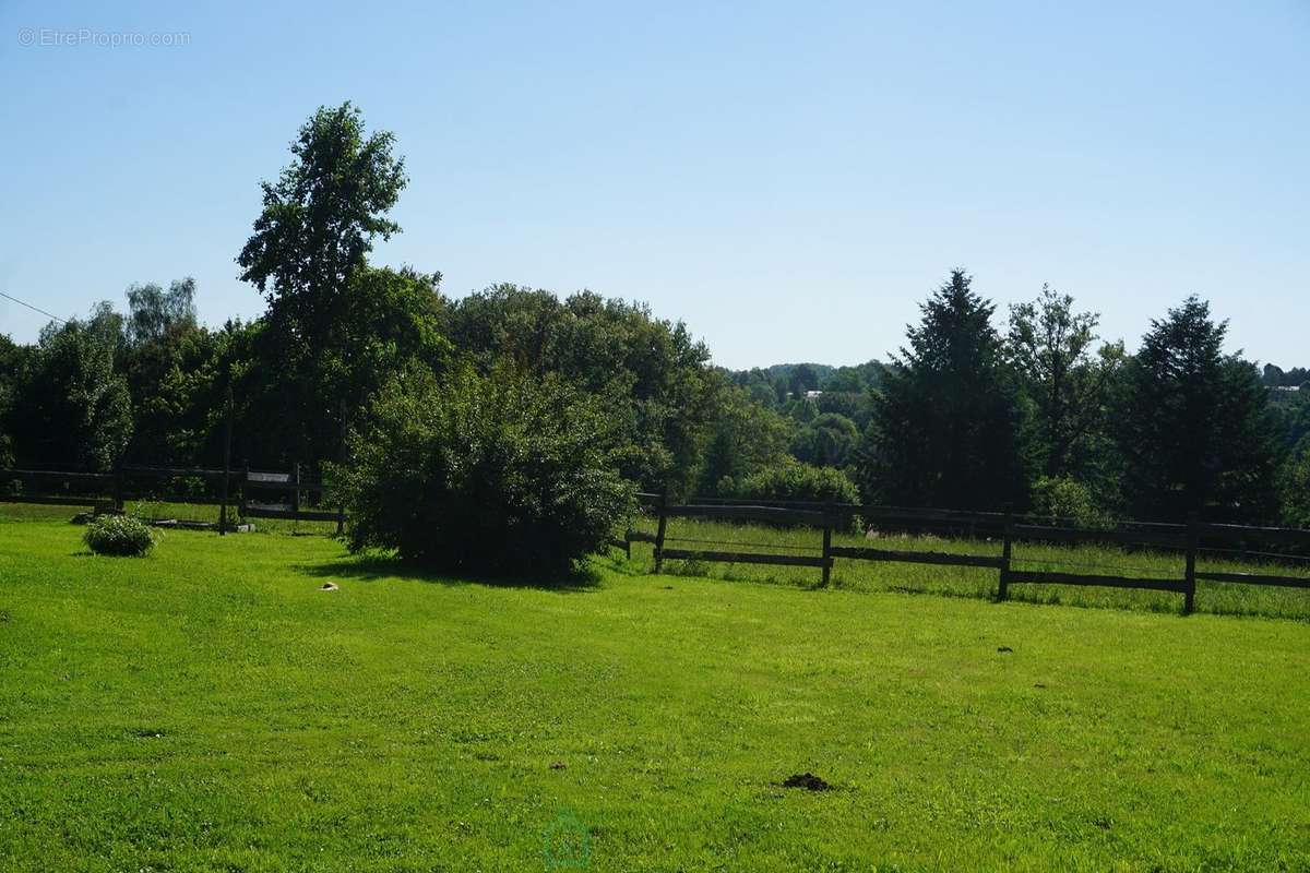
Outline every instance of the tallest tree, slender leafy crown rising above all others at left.
{"label": "tallest tree, slender leafy crown rising above all others at left", "polygon": [[[367,134],[348,102],[320,109],[292,141],[292,162],[263,183],[263,209],[237,257],[241,279],[269,300],[257,353],[278,376],[263,398],[279,411],[266,420],[270,441],[301,461],[337,457],[342,398],[324,389],[368,381],[341,368],[373,366],[377,355],[359,352],[385,342],[358,315],[377,309],[360,294],[394,291],[367,272],[375,240],[400,232],[388,212],[407,179],[393,147],[392,134]],[[371,376],[380,383],[386,373]]]}

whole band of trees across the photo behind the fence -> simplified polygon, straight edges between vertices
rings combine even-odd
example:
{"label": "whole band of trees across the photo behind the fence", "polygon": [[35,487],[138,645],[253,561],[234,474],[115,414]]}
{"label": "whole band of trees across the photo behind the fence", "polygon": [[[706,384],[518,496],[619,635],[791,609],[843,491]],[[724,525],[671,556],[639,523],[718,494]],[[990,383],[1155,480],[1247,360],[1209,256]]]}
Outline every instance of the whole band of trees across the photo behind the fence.
{"label": "whole band of trees across the photo behind the fence", "polygon": [[[1151,321],[1129,353],[1069,294],[1043,288],[1002,318],[954,270],[882,363],[730,372],[683,322],[641,304],[515,284],[455,300],[440,272],[371,263],[373,243],[401,232],[389,212],[407,171],[393,135],[369,134],[350,103],[318,110],[291,153],[262,183],[236,257],[265,313],[204,326],[199,289],[179,279],[132,285],[122,312],[100,304],[33,344],[0,336],[0,463],[214,466],[231,408],[233,457],[255,467],[348,467],[363,454],[385,465],[360,440],[392,432],[407,435],[397,452],[418,465],[478,432],[504,441],[499,454],[470,445],[478,463],[521,463],[520,479],[554,475],[523,458],[555,450],[603,466],[596,482],[614,507],[626,483],[1310,525],[1306,370],[1225,352],[1227,322],[1199,297]],[[521,402],[536,432],[479,397]],[[444,418],[423,411],[443,404]],[[567,415],[588,446],[555,427]],[[443,487],[466,459],[448,459]]]}

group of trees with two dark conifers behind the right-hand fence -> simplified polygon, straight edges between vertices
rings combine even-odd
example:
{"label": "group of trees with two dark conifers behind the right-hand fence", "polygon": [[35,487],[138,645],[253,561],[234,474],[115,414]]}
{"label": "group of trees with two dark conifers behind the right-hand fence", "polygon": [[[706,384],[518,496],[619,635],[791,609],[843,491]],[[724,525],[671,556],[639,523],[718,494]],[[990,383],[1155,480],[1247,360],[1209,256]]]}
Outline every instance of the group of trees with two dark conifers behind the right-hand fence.
{"label": "group of trees with two dark conifers behind the right-hand fence", "polygon": [[849,368],[735,380],[760,403],[778,398],[793,453],[841,466],[870,503],[1310,524],[1305,370],[1226,353],[1227,322],[1204,300],[1153,319],[1136,353],[1049,287],[998,323],[955,270],[921,309],[907,344],[855,390]]}

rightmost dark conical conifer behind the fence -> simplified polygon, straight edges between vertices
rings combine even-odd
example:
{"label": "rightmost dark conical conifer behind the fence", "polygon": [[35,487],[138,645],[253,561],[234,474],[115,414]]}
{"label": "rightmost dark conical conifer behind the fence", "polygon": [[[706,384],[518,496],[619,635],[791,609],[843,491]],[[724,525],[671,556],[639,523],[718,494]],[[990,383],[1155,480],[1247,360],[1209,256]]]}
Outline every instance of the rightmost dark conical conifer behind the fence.
{"label": "rightmost dark conical conifer behind the fence", "polygon": [[1276,514],[1281,446],[1268,389],[1252,364],[1224,353],[1226,334],[1192,296],[1142,338],[1116,416],[1137,517]]}

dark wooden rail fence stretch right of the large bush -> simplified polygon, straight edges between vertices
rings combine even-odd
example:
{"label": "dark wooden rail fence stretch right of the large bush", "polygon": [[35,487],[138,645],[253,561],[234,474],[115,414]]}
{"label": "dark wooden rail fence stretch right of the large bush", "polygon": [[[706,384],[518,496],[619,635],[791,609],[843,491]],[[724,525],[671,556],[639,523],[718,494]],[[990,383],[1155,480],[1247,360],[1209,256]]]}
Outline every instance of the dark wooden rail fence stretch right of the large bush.
{"label": "dark wooden rail fence stretch right of the large bush", "polygon": [[[776,564],[787,567],[815,567],[821,571],[820,582],[828,585],[833,563],[845,560],[872,560],[912,564],[937,564],[945,567],[976,567],[997,571],[997,598],[1006,599],[1011,585],[1098,585],[1108,588],[1148,589],[1172,592],[1183,596],[1183,611],[1191,613],[1196,605],[1196,582],[1234,582],[1243,585],[1273,585],[1282,588],[1310,589],[1310,579],[1303,576],[1281,576],[1275,573],[1234,573],[1210,572],[1196,568],[1197,554],[1207,551],[1203,543],[1241,543],[1233,551],[1246,555],[1247,543],[1285,542],[1297,547],[1310,547],[1310,530],[1288,527],[1248,527],[1241,525],[1201,524],[1196,518],[1187,525],[1162,525],[1148,522],[1123,522],[1114,529],[1094,529],[1061,525],[1027,524],[1010,513],[969,513],[946,509],[908,509],[901,507],[866,507],[855,504],[760,504],[732,503],[724,500],[696,500],[690,504],[671,504],[667,496],[642,493],[645,507],[656,517],[654,535],[627,530],[616,544],[624,547],[631,556],[633,542],[651,542],[655,551],[655,572],[660,572],[664,560],[702,560],[740,564]],[[770,525],[806,526],[821,530],[821,543],[817,555],[777,555],[761,552],[740,552],[709,548],[669,548],[668,520],[676,517],[696,517],[718,521],[764,522]],[[863,546],[833,546],[834,530],[849,526],[852,518],[861,518],[871,526],[903,529],[908,525],[934,525],[960,531],[964,535],[977,535],[985,530],[1001,539],[1001,555],[968,555],[942,551],[917,551],[879,548]],[[1176,552],[1182,556],[1182,572],[1176,579],[1151,579],[1120,575],[1038,572],[1014,569],[1014,544],[1017,542],[1045,542],[1064,544],[1112,543],[1121,547],[1149,547]],[[720,543],[727,544],[727,543]],[[1262,555],[1264,552],[1250,552]],[[1284,558],[1296,558],[1284,555]]]}

